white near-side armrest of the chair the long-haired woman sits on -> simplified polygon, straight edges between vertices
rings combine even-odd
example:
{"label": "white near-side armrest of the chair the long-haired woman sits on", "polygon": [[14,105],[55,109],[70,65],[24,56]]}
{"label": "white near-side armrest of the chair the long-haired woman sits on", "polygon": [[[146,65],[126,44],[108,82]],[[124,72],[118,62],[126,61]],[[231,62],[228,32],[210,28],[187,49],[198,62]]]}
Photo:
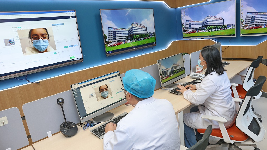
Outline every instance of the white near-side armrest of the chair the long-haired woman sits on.
{"label": "white near-side armrest of the chair the long-haired woman sits on", "polygon": [[227,120],[225,118],[218,117],[218,116],[209,116],[209,115],[202,115],[201,118],[218,121],[220,130],[221,130],[221,133],[222,133],[223,140],[226,143],[234,144],[234,142],[230,139],[230,137],[229,137],[229,135],[227,133],[227,130],[226,130],[225,126],[224,126],[224,123],[227,122]]}

